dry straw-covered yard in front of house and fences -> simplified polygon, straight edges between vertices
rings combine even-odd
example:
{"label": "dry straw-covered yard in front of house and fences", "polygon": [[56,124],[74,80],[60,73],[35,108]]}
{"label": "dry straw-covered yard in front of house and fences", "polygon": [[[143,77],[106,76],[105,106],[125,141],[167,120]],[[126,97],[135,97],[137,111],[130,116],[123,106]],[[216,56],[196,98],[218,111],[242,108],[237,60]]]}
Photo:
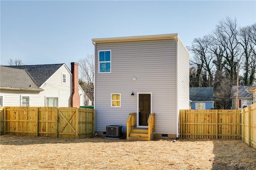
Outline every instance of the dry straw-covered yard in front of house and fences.
{"label": "dry straw-covered yard in front of house and fences", "polygon": [[[256,149],[239,140],[155,141],[0,137],[0,169],[256,169]],[[240,164],[240,166],[239,166]]]}

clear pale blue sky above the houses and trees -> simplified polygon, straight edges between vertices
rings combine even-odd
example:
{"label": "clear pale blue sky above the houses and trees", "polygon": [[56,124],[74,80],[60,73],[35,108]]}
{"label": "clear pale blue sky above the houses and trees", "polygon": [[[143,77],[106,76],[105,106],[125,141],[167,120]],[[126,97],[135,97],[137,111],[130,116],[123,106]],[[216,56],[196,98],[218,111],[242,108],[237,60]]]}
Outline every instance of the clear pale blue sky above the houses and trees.
{"label": "clear pale blue sky above the houses and trees", "polygon": [[218,21],[256,22],[256,1],[0,1],[1,65],[71,62],[94,53],[91,39],[178,33],[190,46]]}

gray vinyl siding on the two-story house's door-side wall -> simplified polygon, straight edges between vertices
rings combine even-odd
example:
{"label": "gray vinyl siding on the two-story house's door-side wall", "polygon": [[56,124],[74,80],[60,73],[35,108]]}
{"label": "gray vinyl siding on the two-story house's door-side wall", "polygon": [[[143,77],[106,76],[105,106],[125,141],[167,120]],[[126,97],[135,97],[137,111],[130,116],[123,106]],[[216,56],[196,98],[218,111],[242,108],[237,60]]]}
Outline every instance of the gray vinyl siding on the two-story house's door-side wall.
{"label": "gray vinyl siding on the two-story house's door-side wall", "polygon": [[[137,93],[152,92],[155,133],[176,134],[176,49],[175,39],[96,43],[96,131],[122,125],[126,132],[128,113],[137,112]],[[98,73],[99,50],[111,50],[111,73]],[[122,94],[122,107],[111,107],[111,93]]]}

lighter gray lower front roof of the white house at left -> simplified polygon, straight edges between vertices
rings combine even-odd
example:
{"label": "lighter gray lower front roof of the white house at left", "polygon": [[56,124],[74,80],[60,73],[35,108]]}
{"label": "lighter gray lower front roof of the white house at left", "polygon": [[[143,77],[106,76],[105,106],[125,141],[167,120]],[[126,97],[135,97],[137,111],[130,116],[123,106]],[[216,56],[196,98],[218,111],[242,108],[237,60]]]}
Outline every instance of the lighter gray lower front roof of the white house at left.
{"label": "lighter gray lower front roof of the white house at left", "polygon": [[25,70],[0,66],[0,88],[11,90],[43,91]]}

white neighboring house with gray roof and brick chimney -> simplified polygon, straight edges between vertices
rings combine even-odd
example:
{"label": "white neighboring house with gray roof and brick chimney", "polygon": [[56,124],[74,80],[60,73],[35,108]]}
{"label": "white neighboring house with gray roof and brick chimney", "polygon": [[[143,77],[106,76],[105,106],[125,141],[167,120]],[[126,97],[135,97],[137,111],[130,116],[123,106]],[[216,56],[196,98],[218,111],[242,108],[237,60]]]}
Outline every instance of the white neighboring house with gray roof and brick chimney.
{"label": "white neighboring house with gray roof and brick chimney", "polygon": [[66,64],[0,66],[0,105],[84,106],[84,90],[78,84],[78,64],[72,64],[73,74]]}

